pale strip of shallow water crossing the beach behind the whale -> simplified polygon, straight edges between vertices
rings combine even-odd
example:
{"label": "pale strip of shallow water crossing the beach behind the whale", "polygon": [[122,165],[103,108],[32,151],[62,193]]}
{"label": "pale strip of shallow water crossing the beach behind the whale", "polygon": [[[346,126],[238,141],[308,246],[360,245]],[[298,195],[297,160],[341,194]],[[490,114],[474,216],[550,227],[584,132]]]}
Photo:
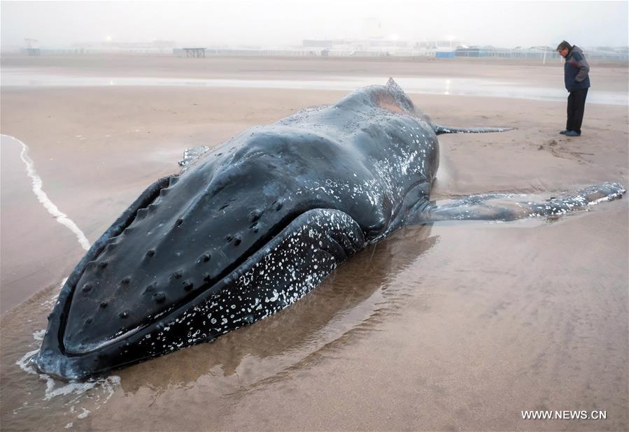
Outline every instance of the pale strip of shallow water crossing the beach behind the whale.
{"label": "pale strip of shallow water crossing the beach behind the whale", "polygon": [[[271,88],[271,89],[319,89],[351,91],[366,85],[387,82],[388,77],[334,77],[314,80],[232,80],[232,79],[194,79],[194,78],[153,78],[153,77],[98,77],[69,76],[33,73],[21,69],[3,69],[2,87],[236,87],[236,88]],[[565,101],[563,89],[551,87],[533,87],[516,82],[500,80],[482,80],[476,78],[396,78],[408,93],[453,94],[461,96],[488,96],[514,99],[533,99],[537,101]],[[588,103],[608,105],[627,105],[626,92],[609,92],[593,89],[588,93]]]}

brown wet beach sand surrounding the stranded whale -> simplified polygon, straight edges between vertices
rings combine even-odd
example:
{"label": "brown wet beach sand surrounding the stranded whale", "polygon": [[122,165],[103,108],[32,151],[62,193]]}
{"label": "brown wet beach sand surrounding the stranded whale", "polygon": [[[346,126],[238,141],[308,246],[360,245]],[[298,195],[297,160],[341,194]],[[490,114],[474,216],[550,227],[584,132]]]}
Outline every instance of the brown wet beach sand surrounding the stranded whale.
{"label": "brown wet beach sand surrounding the stranded whale", "polygon": [[[421,69],[404,62],[306,67],[225,59],[205,62],[215,67],[204,71],[179,59],[187,66],[174,73],[174,60],[149,59],[166,63],[141,76],[285,78],[295,75],[292,69],[307,69],[356,76],[391,71],[386,74],[395,77]],[[99,59],[74,59],[71,67],[45,57],[20,62],[27,70],[64,73],[103,75],[111,69],[133,75],[141,69],[137,59],[106,66]],[[526,66],[526,78],[513,65],[429,66],[430,72],[418,75],[466,73],[561,85],[559,65]],[[595,86],[626,94],[623,70],[599,69]],[[344,94],[7,87],[1,89],[1,133],[29,146],[43,190],[94,241],[146,185],[178,171],[185,148],[217,145],[246,127]],[[584,135],[565,138],[557,134],[564,103],[425,94],[411,99],[440,124],[518,128],[441,136],[434,199],[476,192],[553,194],[606,180],[629,184],[626,107],[586,106]],[[36,349],[55,293],[83,249],[38,203],[17,144],[3,137],[0,150],[3,429],[629,428],[626,199],[553,221],[404,229],[360,252],[274,317],[215,343],[115,371],[118,384],[110,378],[80,392],[54,382],[47,391],[45,380],[15,362]],[[521,410],[594,409],[606,410],[607,420],[521,417]]]}

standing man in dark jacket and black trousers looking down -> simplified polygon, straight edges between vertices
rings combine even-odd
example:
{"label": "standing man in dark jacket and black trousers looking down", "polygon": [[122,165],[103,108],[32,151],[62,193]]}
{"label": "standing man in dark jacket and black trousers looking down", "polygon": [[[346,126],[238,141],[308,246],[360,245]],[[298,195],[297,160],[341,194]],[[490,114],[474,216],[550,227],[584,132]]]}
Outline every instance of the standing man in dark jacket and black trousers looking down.
{"label": "standing man in dark jacket and black trousers looking down", "polygon": [[586,96],[590,88],[590,65],[586,60],[583,51],[577,46],[572,46],[566,41],[562,41],[557,47],[557,52],[565,58],[563,65],[563,78],[568,96],[567,121],[565,131],[560,134],[565,136],[581,136],[581,123],[583,113],[586,108]]}

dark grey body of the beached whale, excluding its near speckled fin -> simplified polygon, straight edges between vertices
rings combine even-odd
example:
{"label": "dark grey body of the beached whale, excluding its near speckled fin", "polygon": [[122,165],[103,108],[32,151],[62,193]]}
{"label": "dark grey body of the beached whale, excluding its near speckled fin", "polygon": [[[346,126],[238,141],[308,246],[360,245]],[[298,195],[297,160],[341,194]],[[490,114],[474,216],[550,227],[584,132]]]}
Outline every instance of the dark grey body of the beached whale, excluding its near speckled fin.
{"label": "dark grey body of the beached whale, excluding its near speckled fin", "polygon": [[[148,187],[92,245],[36,366],[80,380],[213,340],[405,224],[474,218],[430,203],[437,134],[503,130],[432,124],[390,80],[244,131]],[[481,206],[491,198],[476,199],[477,218],[495,213]]]}

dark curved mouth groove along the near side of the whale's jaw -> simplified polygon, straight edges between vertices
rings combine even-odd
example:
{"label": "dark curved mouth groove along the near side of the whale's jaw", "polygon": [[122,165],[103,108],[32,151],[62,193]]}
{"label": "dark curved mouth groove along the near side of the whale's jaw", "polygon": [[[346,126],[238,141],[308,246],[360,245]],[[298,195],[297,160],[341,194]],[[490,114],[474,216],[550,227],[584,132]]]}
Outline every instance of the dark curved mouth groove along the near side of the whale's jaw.
{"label": "dark curved mouth groove along the near side of the whale's jaw", "polygon": [[[327,206],[325,208],[330,208],[330,206]],[[241,268],[246,266],[248,261],[255,254],[257,254],[261,250],[264,250],[264,248],[267,247],[267,245],[269,245],[269,243],[271,243],[271,241],[274,240],[274,238],[276,238],[278,234],[280,234],[282,231],[288,228],[288,226],[290,226],[290,224],[293,221],[295,221],[297,217],[303,215],[304,213],[308,211],[317,210],[317,209],[323,209],[323,207],[313,206],[312,208],[306,208],[299,212],[288,213],[288,215],[283,217],[283,219],[281,219],[277,224],[275,224],[273,228],[267,231],[267,234],[265,236],[262,236],[253,245],[251,245],[249,250],[247,250],[244,254],[242,254],[241,257],[239,257],[239,259],[236,259],[232,264],[225,267],[225,269],[221,271],[213,279],[212,282],[206,283],[205,285],[201,285],[199,289],[196,289],[195,292],[190,294],[190,296],[182,298],[180,301],[170,305],[169,308],[164,309],[160,312],[157,312],[153,316],[149,315],[148,317],[143,319],[142,322],[134,326],[132,329],[128,329],[126,331],[122,330],[122,333],[117,334],[116,336],[113,336],[113,338],[101,340],[99,342],[91,343],[89,345],[86,344],[87,346],[85,346],[85,349],[82,349],[82,350],[76,350],[76,349],[73,350],[69,347],[66,347],[64,343],[64,333],[65,333],[66,322],[69,316],[69,314],[66,313],[64,319],[62,319],[62,322],[60,323],[61,326],[59,326],[59,341],[60,341],[59,347],[61,348],[64,354],[67,354],[69,356],[80,356],[80,355],[90,354],[92,352],[101,350],[106,347],[110,347],[111,345],[115,345],[116,343],[119,343],[121,340],[125,340],[126,338],[129,338],[130,336],[134,336],[134,334],[139,333],[140,331],[146,330],[148,327],[153,326],[155,323],[159,322],[161,317],[164,317],[165,315],[170,315],[172,312],[180,309],[181,307],[189,303],[192,303],[200,296],[208,294],[209,291],[212,291],[216,287],[225,285],[222,282],[224,282],[227,278],[229,278],[230,275],[241,270]],[[100,253],[102,253],[102,251],[99,252],[99,254]],[[94,258],[98,257],[99,254],[97,254]],[[76,288],[76,285],[74,288]],[[217,294],[217,293],[211,293],[209,295],[214,295],[214,294]],[[68,298],[68,305],[66,305],[66,310],[69,310],[73,296],[74,296],[74,292]]]}

